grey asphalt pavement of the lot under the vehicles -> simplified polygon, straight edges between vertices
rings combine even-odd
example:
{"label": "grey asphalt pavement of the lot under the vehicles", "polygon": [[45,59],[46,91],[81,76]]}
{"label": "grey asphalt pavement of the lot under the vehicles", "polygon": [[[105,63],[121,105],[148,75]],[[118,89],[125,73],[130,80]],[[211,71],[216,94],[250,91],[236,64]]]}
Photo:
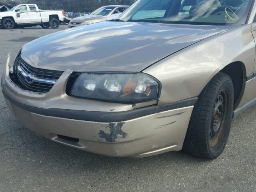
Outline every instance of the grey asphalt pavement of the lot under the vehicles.
{"label": "grey asphalt pavement of the lot under the vehicles", "polygon": [[[0,30],[0,74],[8,52],[66,29]],[[34,134],[7,108],[0,92],[0,192],[256,192],[256,106],[234,119],[224,153],[200,160],[183,152],[111,158]]]}

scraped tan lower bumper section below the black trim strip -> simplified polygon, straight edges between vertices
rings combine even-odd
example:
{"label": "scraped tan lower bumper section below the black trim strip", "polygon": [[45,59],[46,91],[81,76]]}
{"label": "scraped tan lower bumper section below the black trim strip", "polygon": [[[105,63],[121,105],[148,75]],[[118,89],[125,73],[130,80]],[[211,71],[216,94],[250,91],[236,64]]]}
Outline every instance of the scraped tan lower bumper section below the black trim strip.
{"label": "scraped tan lower bumper section below the black trim strip", "polygon": [[44,116],[19,108],[8,99],[6,103],[26,128],[41,136],[88,152],[120,157],[181,150],[193,109],[191,106],[106,123]]}

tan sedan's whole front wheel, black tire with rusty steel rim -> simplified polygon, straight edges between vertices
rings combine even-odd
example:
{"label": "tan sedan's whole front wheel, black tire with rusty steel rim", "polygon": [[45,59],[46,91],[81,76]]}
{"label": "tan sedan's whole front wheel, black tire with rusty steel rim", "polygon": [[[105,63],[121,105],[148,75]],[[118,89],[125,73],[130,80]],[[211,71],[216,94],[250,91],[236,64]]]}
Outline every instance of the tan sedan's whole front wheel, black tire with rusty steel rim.
{"label": "tan sedan's whole front wheel, black tire with rusty steel rim", "polygon": [[183,150],[202,159],[220,156],[228,141],[233,107],[232,80],[227,74],[218,73],[198,97]]}

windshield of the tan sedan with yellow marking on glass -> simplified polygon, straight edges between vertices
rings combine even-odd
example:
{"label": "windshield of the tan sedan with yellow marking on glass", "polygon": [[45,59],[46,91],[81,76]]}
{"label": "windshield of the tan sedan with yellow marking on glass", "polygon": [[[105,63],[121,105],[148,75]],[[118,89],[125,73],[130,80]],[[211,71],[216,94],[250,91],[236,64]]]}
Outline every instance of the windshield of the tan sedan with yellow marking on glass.
{"label": "windshield of the tan sedan with yellow marking on glass", "polygon": [[137,0],[121,21],[204,25],[245,24],[252,0]]}

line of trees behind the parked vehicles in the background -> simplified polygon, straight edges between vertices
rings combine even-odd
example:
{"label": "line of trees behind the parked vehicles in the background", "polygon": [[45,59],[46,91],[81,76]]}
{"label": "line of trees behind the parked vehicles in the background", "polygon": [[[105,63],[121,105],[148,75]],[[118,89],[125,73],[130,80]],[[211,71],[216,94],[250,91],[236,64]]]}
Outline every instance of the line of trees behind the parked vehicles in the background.
{"label": "line of trees behind the parked vehicles in the background", "polygon": [[[1,1],[1,0],[0,0]],[[5,0],[16,5],[21,3],[37,4],[40,9],[63,9],[66,12],[92,12],[106,5],[131,5],[136,0]]]}

